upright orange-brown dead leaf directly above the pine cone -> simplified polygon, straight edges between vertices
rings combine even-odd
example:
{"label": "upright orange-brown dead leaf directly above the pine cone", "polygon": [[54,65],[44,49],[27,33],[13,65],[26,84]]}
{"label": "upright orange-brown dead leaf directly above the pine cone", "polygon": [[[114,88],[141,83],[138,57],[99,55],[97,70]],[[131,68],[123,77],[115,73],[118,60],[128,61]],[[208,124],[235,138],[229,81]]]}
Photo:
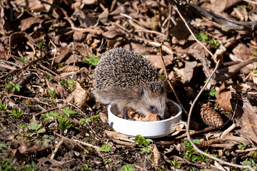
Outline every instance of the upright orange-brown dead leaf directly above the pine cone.
{"label": "upright orange-brown dead leaf directly above the pine cone", "polygon": [[231,105],[231,99],[232,94],[231,90],[228,89],[228,85],[226,82],[222,84],[222,86],[218,89],[217,95],[217,103],[226,111],[233,112],[232,105]]}

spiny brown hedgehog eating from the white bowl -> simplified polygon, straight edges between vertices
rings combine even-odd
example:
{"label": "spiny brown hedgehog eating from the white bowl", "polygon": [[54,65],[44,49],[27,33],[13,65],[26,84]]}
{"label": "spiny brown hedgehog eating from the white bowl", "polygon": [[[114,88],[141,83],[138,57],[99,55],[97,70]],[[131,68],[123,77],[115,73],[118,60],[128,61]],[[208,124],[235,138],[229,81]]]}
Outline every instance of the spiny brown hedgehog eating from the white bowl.
{"label": "spiny brown hedgehog eating from the white bowl", "polygon": [[131,108],[140,115],[157,114],[164,119],[166,90],[156,68],[141,54],[126,48],[112,48],[101,56],[94,74],[93,94],[104,105],[116,105],[128,119]]}

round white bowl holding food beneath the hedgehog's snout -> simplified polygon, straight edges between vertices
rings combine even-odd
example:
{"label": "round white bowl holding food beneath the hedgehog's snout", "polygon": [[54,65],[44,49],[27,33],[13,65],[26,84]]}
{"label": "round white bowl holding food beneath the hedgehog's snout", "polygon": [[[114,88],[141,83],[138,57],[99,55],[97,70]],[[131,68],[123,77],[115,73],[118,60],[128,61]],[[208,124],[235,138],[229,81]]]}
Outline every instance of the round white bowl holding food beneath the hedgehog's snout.
{"label": "round white bowl holding food beneath the hedgehog's snout", "polygon": [[108,107],[108,119],[111,128],[118,133],[136,137],[136,135],[142,135],[144,138],[160,138],[173,133],[173,125],[181,120],[182,109],[174,103],[178,108],[178,114],[172,118],[166,120],[158,120],[152,122],[141,122],[133,120],[125,120],[116,116],[118,113],[117,108]]}

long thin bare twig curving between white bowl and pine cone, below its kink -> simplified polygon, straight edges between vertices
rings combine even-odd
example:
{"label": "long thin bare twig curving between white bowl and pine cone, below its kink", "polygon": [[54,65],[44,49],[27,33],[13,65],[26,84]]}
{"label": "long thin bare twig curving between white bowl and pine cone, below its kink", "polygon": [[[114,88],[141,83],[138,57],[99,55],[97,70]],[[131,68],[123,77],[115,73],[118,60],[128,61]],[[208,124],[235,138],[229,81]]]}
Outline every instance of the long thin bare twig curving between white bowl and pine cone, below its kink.
{"label": "long thin bare twig curving between white bowl and pine cone, below its kink", "polygon": [[218,60],[218,62],[216,63],[216,67],[214,68],[213,72],[211,73],[211,76],[208,78],[208,80],[206,81],[206,83],[204,84],[203,88],[201,88],[200,92],[198,93],[198,95],[196,96],[195,100],[193,100],[193,104],[191,105],[191,108],[189,110],[189,113],[188,113],[188,122],[186,124],[186,134],[187,134],[187,139],[188,141],[191,143],[191,145],[193,146],[194,149],[196,149],[197,152],[200,152],[201,154],[203,155],[206,155],[207,157],[213,159],[213,160],[216,160],[218,162],[221,162],[221,164],[224,164],[224,165],[230,165],[232,167],[239,167],[239,168],[244,168],[244,169],[249,169],[249,170],[253,170],[253,168],[250,166],[250,165],[236,165],[236,164],[233,164],[231,162],[226,162],[226,161],[223,161],[217,157],[214,157],[213,155],[210,155],[206,152],[203,152],[202,150],[200,150],[196,144],[193,142],[193,140],[191,139],[191,135],[189,133],[189,125],[190,125],[190,119],[191,119],[191,115],[192,115],[192,112],[193,112],[193,107],[194,105],[196,105],[196,101],[198,100],[198,98],[200,97],[201,93],[203,93],[203,90],[205,90],[206,86],[208,85],[208,82],[211,81],[211,78],[213,77],[214,73],[217,71],[218,69],[218,66],[219,66],[219,63],[220,61]]}

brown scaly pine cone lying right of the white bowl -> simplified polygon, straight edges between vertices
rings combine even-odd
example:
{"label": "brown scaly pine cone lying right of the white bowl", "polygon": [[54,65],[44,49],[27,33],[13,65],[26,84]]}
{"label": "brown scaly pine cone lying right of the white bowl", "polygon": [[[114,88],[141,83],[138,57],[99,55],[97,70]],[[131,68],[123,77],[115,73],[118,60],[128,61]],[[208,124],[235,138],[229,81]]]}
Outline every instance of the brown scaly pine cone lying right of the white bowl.
{"label": "brown scaly pine cone lying right of the white bowl", "polygon": [[201,105],[201,118],[203,123],[213,128],[218,128],[223,125],[221,115],[207,104]]}

